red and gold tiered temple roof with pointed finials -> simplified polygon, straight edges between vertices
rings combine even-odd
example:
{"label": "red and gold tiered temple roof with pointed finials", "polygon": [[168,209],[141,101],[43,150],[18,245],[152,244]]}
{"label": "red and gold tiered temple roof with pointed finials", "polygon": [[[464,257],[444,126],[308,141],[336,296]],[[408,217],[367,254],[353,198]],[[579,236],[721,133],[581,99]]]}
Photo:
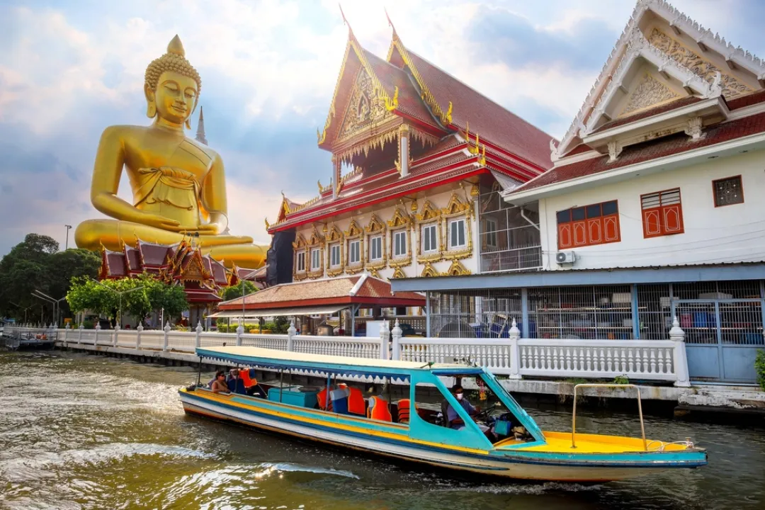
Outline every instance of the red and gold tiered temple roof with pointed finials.
{"label": "red and gold tiered temple roof with pointed finials", "polygon": [[[398,141],[409,133],[409,171]],[[333,154],[333,182],[317,197],[284,197],[270,233],[362,206],[498,172],[517,184],[552,166],[552,137],[405,47],[394,29],[386,60],[349,27],[340,76],[318,146]],[[340,164],[353,168],[340,177]]]}

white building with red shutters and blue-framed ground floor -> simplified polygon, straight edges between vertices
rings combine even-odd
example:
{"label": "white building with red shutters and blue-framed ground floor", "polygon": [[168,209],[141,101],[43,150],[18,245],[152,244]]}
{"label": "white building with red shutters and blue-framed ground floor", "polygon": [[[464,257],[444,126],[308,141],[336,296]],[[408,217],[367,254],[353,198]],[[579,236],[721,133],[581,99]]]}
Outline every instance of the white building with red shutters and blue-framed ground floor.
{"label": "white building with red shutters and blue-framed ground floor", "polygon": [[437,326],[483,331],[487,310],[502,310],[527,338],[666,339],[678,317],[692,379],[754,382],[763,84],[762,60],[662,0],[641,0],[551,146],[552,169],[502,193],[539,211],[541,271],[401,281],[394,291],[430,291]]}

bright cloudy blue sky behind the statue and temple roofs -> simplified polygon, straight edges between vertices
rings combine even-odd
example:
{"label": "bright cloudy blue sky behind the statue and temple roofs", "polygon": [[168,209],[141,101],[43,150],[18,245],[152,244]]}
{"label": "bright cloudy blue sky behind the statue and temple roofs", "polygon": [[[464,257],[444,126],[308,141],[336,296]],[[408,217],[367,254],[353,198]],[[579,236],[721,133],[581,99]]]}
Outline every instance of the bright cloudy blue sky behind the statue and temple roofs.
{"label": "bright cloudy blue sky behind the statue and temple roofs", "polygon": [[[386,57],[391,29],[422,55],[561,138],[630,17],[633,0],[343,0],[363,47]],[[671,2],[765,57],[760,0]],[[29,232],[63,248],[90,203],[109,125],[148,125],[143,76],[178,34],[202,76],[207,141],[226,167],[231,232],[269,243],[281,193],[327,184],[316,146],[348,31],[334,0],[0,0],[0,256]],[[192,122],[196,132],[196,114]],[[131,199],[122,180],[120,197]],[[73,230],[69,245],[73,245]]]}

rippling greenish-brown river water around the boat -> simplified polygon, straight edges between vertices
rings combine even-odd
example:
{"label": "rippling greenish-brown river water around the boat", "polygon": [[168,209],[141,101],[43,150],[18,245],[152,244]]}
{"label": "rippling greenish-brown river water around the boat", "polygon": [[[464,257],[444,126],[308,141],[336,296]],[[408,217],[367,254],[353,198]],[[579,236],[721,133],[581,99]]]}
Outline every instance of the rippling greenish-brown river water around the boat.
{"label": "rippling greenish-brown river water around the boat", "polygon": [[[702,469],[601,486],[454,479],[184,415],[190,367],[67,352],[0,352],[0,508],[765,508],[765,430],[646,417],[692,437]],[[543,428],[570,413],[529,409]],[[640,434],[636,417],[582,413],[578,429]]]}

